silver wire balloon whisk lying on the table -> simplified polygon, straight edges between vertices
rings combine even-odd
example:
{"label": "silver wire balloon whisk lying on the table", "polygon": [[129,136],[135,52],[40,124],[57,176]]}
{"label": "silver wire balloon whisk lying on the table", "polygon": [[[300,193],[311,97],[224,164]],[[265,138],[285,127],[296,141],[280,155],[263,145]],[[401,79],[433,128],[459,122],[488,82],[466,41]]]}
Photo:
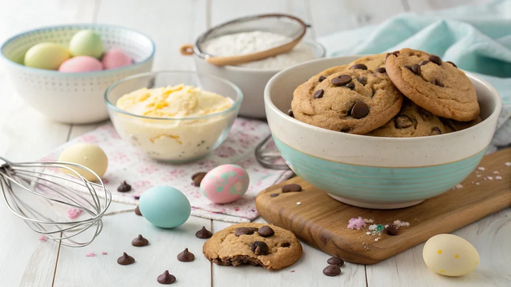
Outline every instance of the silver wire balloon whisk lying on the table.
{"label": "silver wire balloon whisk lying on the table", "polygon": [[[97,180],[86,180],[82,171]],[[89,245],[100,234],[112,199],[96,173],[69,162],[13,163],[0,157],[0,190],[7,208],[32,230],[71,247]],[[69,208],[83,211],[86,218],[67,219]]]}

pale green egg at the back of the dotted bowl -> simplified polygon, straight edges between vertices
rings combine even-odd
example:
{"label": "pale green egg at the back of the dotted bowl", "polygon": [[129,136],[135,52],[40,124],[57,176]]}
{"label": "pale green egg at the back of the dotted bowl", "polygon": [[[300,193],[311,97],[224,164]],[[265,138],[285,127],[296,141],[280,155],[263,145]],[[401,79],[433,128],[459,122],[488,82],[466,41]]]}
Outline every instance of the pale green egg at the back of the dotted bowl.
{"label": "pale green egg at the back of the dotted bowl", "polygon": [[69,41],[71,55],[90,56],[99,59],[103,55],[103,43],[97,33],[92,30],[82,30]]}

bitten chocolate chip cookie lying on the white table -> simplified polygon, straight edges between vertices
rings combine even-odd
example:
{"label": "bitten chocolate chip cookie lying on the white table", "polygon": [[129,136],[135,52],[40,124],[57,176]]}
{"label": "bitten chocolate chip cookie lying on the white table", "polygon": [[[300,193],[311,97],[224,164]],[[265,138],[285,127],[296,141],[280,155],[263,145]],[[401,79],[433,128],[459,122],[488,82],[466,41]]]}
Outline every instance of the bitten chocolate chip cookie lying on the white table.
{"label": "bitten chocolate chip cookie lying on the white table", "polygon": [[286,229],[262,223],[240,223],[216,232],[204,243],[202,252],[218,265],[251,264],[272,270],[298,261],[301,244]]}

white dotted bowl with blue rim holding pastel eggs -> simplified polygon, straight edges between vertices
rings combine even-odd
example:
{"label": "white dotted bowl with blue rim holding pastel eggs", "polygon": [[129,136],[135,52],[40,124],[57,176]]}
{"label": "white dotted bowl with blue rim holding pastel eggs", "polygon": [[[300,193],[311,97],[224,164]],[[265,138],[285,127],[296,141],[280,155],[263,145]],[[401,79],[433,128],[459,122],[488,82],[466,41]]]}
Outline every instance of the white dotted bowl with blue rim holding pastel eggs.
{"label": "white dotted bowl with blue rim holding pastel eggs", "polygon": [[[61,73],[23,65],[25,53],[41,42],[68,46],[78,31],[90,29],[98,33],[105,51],[119,47],[133,64],[88,73]],[[123,27],[79,24],[41,28],[8,39],[0,48],[5,68],[13,86],[25,101],[54,121],[87,124],[108,118],[104,102],[106,89],[126,77],[151,70],[155,45],[146,35]]]}

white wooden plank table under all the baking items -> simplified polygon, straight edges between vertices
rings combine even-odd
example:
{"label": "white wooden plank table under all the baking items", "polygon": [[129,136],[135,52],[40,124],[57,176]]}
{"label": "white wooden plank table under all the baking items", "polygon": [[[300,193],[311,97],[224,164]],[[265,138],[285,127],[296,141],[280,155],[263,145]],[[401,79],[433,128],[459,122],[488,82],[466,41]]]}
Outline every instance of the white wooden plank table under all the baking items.
{"label": "white wooden plank table under all the baking items", "polygon": [[[157,45],[154,69],[194,69],[178,47],[191,43],[212,25],[248,14],[284,12],[312,24],[307,37],[374,24],[405,11],[449,8],[463,0],[1,0],[0,40],[39,26],[73,22],[122,25],[148,34]],[[13,161],[34,160],[69,139],[95,128],[57,124],[17,97],[6,71],[0,69],[0,155]],[[109,211],[133,206],[112,203]],[[259,222],[263,222],[261,219]],[[304,244],[303,257],[292,267],[269,272],[251,266],[212,265],[201,254],[203,240],[194,233],[206,226],[221,230],[229,223],[191,217],[173,230],[157,229],[132,212],[105,217],[104,231],[84,248],[39,242],[30,230],[0,203],[0,286],[159,286],[165,270],[177,286],[511,286],[511,209],[454,232],[479,251],[481,264],[461,278],[427,270],[423,245],[375,265],[346,264],[342,274],[327,277],[322,269],[330,256]],[[442,224],[439,222],[438,224]],[[131,248],[137,234],[151,245]],[[184,264],[175,256],[184,248],[196,260]],[[115,260],[128,251],[136,264]],[[102,251],[108,255],[101,255]],[[85,257],[88,252],[99,254]],[[291,272],[293,271],[294,272]]]}

